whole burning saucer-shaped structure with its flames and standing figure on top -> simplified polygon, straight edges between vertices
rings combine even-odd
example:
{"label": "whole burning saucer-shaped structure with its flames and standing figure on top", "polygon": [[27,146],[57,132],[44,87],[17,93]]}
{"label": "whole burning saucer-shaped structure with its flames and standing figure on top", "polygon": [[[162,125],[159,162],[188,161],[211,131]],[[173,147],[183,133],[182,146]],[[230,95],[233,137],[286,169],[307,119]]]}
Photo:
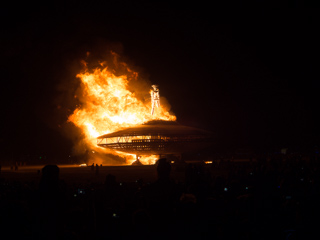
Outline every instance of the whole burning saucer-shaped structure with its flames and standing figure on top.
{"label": "whole burning saucer-shaped structure with its flames and standing figure on top", "polygon": [[128,164],[143,155],[142,163],[153,164],[158,155],[181,154],[209,143],[209,133],[175,122],[157,85],[150,90],[147,80],[119,62],[117,54],[111,52],[111,56],[112,61],[101,62],[95,69],[84,63],[77,75],[81,81],[74,99],[78,104],[68,118],[81,129],[75,152],[114,154]]}

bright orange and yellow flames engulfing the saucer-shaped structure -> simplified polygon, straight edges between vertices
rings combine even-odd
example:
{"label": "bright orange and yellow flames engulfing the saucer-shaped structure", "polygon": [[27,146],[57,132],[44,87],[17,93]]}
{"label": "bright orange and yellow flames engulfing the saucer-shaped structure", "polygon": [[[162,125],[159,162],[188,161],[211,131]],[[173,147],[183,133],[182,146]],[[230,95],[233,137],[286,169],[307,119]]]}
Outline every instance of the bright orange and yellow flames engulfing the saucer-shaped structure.
{"label": "bright orange and yellow flames engulfing the saucer-shaped structure", "polygon": [[[127,65],[123,63],[123,66]],[[88,69],[85,64],[84,71],[77,75],[81,82],[79,94],[75,98],[80,104],[68,120],[82,130],[85,145],[90,149],[98,148],[96,138],[100,135],[150,120],[176,120],[176,117],[163,106],[159,106],[151,114],[150,89],[135,90],[132,87],[139,85],[135,83],[143,81],[137,72],[128,67],[121,75],[115,72],[116,69],[108,68],[105,63],[93,70]],[[139,92],[139,96],[135,92]],[[99,149],[106,151],[104,148]],[[125,157],[128,163],[135,159],[132,154],[112,153]],[[153,164],[156,156],[143,156],[140,160],[144,164]]]}

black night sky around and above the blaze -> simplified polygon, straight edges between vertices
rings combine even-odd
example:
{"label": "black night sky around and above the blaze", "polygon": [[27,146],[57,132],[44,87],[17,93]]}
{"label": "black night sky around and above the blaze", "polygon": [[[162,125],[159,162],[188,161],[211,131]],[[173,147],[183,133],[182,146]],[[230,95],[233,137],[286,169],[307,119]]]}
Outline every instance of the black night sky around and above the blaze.
{"label": "black night sky around and above the blaze", "polygon": [[57,111],[57,86],[74,79],[87,51],[114,48],[160,85],[180,123],[214,132],[219,144],[314,148],[319,14],[259,9],[124,1],[2,7],[1,147],[70,151],[58,127],[68,113]]}

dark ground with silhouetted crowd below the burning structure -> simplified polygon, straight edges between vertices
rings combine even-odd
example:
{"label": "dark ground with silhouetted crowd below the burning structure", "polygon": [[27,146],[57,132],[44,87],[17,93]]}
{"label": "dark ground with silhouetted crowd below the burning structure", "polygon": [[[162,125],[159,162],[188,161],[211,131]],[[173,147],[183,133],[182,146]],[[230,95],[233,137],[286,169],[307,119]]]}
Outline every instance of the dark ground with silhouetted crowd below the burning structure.
{"label": "dark ground with silhouetted crowd below the burning structure", "polygon": [[171,165],[160,177],[157,166],[3,168],[0,226],[8,239],[308,239],[319,166],[275,156]]}

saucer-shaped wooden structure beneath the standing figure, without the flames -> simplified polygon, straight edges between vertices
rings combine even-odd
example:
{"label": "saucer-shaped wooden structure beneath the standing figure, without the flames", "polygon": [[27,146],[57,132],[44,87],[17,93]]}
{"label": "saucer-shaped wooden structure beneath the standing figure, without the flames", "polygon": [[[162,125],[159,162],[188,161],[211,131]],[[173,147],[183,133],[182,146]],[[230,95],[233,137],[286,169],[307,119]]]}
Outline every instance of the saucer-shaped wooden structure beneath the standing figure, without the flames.
{"label": "saucer-shaped wooden structure beneath the standing figure, without the flames", "polygon": [[174,121],[151,121],[97,138],[97,145],[139,155],[181,154],[212,144],[210,132]]}

